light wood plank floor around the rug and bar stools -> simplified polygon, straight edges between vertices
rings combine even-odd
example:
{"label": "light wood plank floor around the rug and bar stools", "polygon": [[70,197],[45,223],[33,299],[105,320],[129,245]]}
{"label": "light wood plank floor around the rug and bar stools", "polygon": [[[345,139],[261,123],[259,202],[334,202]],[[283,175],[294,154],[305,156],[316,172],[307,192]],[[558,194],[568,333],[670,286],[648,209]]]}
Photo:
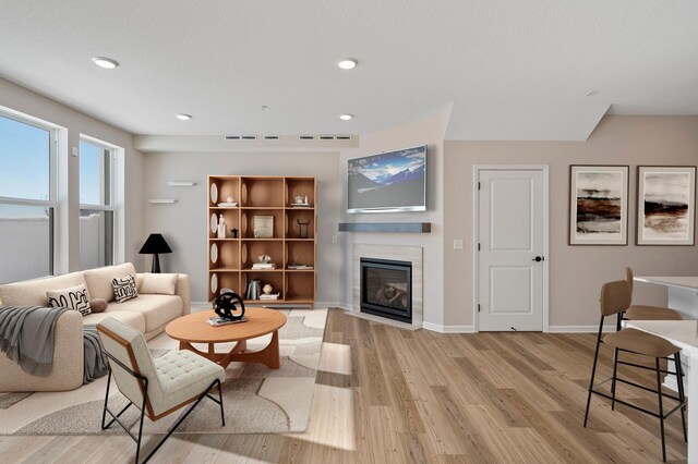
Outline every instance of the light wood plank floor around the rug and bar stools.
{"label": "light wood plank floor around the rug and bar stools", "polygon": [[[153,462],[654,462],[657,419],[592,400],[582,427],[591,334],[440,334],[330,310],[308,431],[179,435]],[[610,365],[604,352],[601,363]],[[607,377],[610,369],[600,369]],[[650,378],[640,374],[636,379]],[[599,377],[600,378],[600,377]],[[646,405],[652,396],[621,390]],[[686,461],[679,415],[667,459]],[[152,445],[155,438],[146,443]],[[122,463],[119,437],[0,437],[2,463]]]}

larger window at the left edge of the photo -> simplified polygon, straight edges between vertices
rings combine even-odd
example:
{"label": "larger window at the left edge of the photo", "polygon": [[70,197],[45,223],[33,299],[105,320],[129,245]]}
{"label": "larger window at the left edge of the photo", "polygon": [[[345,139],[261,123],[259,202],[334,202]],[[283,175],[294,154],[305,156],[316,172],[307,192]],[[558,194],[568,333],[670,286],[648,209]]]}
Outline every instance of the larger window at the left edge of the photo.
{"label": "larger window at the left edge of the photo", "polygon": [[56,133],[0,114],[0,283],[53,273]]}

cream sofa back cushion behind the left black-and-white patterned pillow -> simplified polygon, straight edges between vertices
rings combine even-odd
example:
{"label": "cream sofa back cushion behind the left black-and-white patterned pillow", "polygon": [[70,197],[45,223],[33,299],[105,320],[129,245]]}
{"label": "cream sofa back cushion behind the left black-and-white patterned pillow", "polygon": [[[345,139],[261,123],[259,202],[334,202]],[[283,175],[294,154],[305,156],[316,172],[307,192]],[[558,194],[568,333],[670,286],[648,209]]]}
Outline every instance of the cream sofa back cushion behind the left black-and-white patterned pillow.
{"label": "cream sofa back cushion behind the left black-and-white patterned pillow", "polygon": [[[50,290],[68,289],[85,284],[82,272],[71,272],[64,276],[48,277],[46,279],[27,280],[23,282],[0,285],[0,304],[15,306],[48,306],[46,292]],[[109,282],[111,285],[111,282]],[[87,285],[87,288],[89,288]]]}

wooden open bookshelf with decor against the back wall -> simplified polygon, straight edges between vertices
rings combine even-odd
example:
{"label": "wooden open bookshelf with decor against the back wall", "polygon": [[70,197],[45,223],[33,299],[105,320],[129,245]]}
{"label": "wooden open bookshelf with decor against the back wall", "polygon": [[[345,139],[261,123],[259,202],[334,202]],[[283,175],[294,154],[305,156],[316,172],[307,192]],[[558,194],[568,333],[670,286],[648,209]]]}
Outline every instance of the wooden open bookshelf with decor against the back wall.
{"label": "wooden open bookshelf with decor against the back wall", "polygon": [[[312,307],[317,289],[315,178],[209,175],[207,192],[208,301],[213,302],[220,289],[227,288],[242,296],[245,305],[306,304]],[[294,206],[297,196],[308,197],[308,206]],[[220,205],[228,198],[237,205]],[[227,225],[225,239],[218,239],[220,216]],[[238,230],[237,237],[233,229]],[[258,257],[265,254],[272,257],[276,268],[253,269]],[[306,267],[298,269],[294,265]],[[272,293],[279,293],[279,298],[248,300],[248,284],[253,279],[260,279],[261,286],[270,284]]]}

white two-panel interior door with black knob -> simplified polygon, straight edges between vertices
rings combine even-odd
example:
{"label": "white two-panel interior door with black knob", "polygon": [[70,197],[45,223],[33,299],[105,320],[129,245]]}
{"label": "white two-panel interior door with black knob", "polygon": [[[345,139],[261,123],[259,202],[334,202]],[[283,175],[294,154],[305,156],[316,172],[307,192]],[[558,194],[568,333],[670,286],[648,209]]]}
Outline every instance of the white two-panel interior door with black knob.
{"label": "white two-panel interior door with black knob", "polygon": [[543,170],[483,169],[478,181],[479,330],[542,331]]}

